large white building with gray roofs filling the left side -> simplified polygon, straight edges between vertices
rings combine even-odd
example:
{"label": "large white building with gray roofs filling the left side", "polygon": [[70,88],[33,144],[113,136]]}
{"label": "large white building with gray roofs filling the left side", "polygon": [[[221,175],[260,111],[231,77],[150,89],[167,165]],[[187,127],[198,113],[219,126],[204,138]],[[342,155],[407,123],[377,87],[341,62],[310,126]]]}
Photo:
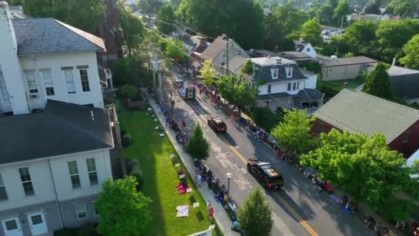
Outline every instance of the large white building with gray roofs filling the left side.
{"label": "large white building with gray roofs filling the left side", "polygon": [[0,1],[0,42],[0,235],[96,220],[114,148],[103,41],[55,19],[12,19]]}

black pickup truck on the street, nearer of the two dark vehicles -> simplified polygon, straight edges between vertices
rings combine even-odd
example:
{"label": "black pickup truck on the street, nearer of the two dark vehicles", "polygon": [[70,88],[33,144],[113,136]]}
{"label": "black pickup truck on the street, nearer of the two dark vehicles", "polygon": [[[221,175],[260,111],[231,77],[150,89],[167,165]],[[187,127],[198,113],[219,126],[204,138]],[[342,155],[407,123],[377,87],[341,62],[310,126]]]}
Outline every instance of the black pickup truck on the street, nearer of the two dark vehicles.
{"label": "black pickup truck on the street, nearer of the two dark vehicles", "polygon": [[269,162],[251,158],[247,161],[247,171],[252,174],[264,188],[277,189],[284,186],[284,179]]}

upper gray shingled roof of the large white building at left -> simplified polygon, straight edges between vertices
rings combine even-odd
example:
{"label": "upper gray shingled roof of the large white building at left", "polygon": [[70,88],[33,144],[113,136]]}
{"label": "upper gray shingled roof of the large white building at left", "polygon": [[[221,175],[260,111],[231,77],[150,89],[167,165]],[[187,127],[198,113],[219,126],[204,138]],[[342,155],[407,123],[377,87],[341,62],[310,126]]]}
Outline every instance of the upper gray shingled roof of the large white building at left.
{"label": "upper gray shingled roof of the large white building at left", "polygon": [[105,50],[102,39],[52,18],[12,19],[18,55]]}

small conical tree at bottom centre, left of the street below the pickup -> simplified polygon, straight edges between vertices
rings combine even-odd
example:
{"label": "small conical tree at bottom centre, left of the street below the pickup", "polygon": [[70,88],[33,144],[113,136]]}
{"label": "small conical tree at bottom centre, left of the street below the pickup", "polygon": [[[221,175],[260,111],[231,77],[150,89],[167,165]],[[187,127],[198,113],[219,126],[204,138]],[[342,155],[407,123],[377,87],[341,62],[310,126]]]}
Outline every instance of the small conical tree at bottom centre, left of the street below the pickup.
{"label": "small conical tree at bottom centre, left of the street below the pickup", "polygon": [[[257,219],[257,224],[255,224]],[[237,220],[246,235],[269,235],[272,229],[272,210],[259,187],[247,195],[238,208]]]}

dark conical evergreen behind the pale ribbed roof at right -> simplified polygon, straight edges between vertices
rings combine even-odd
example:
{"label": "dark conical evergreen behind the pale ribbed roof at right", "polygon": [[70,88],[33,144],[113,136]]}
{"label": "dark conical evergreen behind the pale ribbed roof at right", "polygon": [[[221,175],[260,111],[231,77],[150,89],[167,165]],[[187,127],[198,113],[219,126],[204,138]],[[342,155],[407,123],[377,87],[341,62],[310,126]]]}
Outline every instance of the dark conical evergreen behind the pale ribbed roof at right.
{"label": "dark conical evergreen behind the pale ribbed roof at right", "polygon": [[371,73],[365,79],[362,92],[370,95],[392,99],[393,90],[391,90],[391,82],[387,74],[387,64],[379,62]]}

